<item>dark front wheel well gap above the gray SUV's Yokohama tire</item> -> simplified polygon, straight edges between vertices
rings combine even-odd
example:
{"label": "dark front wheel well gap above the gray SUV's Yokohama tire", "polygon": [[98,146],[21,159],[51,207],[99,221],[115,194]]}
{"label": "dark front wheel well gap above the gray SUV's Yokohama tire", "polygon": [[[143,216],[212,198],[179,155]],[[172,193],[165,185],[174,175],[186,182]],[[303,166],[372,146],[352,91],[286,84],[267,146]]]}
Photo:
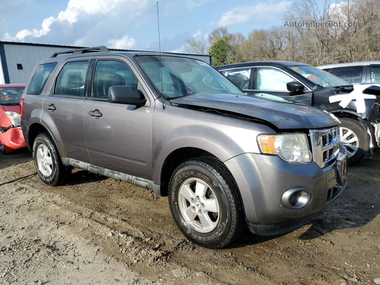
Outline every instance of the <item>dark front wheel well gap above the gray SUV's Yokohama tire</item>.
{"label": "dark front wheel well gap above the gray SUV's Yokohama tire", "polygon": [[215,157],[206,150],[196,147],[182,147],[171,152],[166,157],[161,169],[161,196],[168,196],[169,181],[174,169],[186,160],[201,156]]}

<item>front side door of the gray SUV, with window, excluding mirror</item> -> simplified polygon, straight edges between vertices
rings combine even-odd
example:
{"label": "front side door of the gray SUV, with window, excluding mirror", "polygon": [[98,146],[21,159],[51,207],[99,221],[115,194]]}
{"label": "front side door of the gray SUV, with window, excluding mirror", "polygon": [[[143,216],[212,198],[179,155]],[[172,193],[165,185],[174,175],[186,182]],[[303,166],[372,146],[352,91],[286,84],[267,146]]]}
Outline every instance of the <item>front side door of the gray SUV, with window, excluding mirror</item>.
{"label": "front side door of the gray SUV, with window, excluding mirror", "polygon": [[87,149],[93,165],[152,179],[153,105],[109,103],[110,86],[130,85],[144,93],[130,67],[119,59],[97,58],[84,103]]}

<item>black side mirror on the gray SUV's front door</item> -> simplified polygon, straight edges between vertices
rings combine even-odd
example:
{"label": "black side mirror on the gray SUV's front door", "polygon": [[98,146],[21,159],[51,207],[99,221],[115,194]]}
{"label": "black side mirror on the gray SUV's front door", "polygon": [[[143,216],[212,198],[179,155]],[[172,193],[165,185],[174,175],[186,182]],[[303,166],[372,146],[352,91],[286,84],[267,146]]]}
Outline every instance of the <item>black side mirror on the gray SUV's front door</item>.
{"label": "black side mirror on the gray SUV's front door", "polygon": [[116,85],[108,89],[108,102],[144,106],[146,99],[140,90],[130,85]]}

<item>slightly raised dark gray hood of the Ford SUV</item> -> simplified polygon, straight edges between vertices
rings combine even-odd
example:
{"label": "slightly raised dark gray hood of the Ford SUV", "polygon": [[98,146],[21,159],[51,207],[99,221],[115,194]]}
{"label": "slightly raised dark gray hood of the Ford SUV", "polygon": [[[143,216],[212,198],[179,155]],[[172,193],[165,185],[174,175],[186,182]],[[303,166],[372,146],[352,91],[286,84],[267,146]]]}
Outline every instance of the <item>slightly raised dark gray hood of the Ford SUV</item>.
{"label": "slightly raised dark gray hood of the Ford SUV", "polygon": [[[270,95],[269,95],[270,96]],[[336,126],[338,122],[320,109],[278,100],[242,94],[195,94],[170,100],[178,105],[227,111],[259,119],[278,129],[310,129]]]}

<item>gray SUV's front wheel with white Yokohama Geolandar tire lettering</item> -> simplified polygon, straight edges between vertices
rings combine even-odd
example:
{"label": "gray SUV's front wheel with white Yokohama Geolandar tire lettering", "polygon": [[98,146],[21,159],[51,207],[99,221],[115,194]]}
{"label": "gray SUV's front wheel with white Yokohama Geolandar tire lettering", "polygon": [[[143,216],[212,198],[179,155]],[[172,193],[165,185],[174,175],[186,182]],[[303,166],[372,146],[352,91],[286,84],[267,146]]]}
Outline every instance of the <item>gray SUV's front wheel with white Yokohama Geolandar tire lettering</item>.
{"label": "gray SUV's front wheel with white Yokohama Geolandar tire lettering", "polygon": [[222,248],[244,230],[236,184],[216,158],[200,157],[181,163],[171,177],[168,196],[173,218],[190,241]]}

